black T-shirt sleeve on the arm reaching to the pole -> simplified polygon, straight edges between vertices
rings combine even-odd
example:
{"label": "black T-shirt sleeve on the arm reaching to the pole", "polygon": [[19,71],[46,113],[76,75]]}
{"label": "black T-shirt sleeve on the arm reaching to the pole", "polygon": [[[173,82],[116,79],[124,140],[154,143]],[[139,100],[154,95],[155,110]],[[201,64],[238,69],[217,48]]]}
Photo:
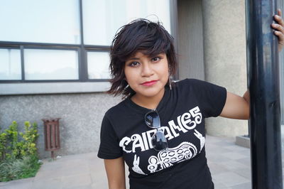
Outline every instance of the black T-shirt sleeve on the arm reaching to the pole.
{"label": "black T-shirt sleeve on the arm reaching to the pole", "polygon": [[205,117],[219,116],[226,103],[226,88],[202,80],[191,82]]}

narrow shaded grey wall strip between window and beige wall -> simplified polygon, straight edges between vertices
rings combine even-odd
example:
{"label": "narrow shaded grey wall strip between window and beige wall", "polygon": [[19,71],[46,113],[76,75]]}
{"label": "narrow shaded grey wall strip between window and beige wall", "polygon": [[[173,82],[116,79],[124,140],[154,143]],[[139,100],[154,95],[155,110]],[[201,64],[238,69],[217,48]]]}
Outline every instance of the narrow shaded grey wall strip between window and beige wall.
{"label": "narrow shaded grey wall strip between window and beige wall", "polygon": [[204,80],[202,1],[178,1],[179,79]]}

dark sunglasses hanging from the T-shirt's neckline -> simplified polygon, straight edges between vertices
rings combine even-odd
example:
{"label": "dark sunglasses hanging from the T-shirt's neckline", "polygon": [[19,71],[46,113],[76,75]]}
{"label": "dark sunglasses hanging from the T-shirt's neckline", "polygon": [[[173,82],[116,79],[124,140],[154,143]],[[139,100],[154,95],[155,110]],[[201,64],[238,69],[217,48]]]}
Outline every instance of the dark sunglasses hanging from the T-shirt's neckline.
{"label": "dark sunglasses hanging from the T-shirt's neckline", "polygon": [[156,151],[168,151],[168,141],[160,127],[160,117],[155,109],[145,114],[145,123],[151,129],[157,129],[151,140],[153,148]]}

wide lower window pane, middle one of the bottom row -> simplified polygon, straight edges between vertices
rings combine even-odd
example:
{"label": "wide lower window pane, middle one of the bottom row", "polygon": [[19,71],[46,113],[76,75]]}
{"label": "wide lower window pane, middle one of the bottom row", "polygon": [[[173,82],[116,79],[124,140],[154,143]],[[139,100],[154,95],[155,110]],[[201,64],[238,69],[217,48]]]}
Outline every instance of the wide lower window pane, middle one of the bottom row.
{"label": "wide lower window pane, middle one of the bottom row", "polygon": [[76,50],[25,49],[26,80],[78,80]]}

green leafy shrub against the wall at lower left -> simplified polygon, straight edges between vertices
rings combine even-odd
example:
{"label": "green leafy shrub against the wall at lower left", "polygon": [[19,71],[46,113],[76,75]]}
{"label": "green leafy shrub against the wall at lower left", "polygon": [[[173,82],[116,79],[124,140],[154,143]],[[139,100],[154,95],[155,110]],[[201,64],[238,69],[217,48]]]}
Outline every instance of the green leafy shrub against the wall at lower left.
{"label": "green leafy shrub against the wall at lower left", "polygon": [[0,182],[33,177],[40,168],[36,148],[38,125],[25,121],[24,130],[18,133],[18,124],[13,121],[0,134]]}

